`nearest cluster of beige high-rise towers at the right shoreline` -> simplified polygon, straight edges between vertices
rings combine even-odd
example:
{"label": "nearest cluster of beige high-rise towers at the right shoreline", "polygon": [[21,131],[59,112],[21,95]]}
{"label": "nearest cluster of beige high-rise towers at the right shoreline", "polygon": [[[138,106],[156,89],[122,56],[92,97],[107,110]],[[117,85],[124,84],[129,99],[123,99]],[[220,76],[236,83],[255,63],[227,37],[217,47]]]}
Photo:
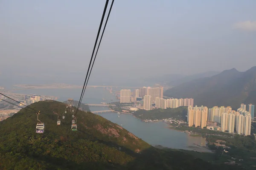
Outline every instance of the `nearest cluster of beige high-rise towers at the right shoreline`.
{"label": "nearest cluster of beige high-rise towers at the right shoreline", "polygon": [[[207,116],[208,112],[208,116]],[[241,107],[237,111],[233,111],[232,108],[221,106],[215,106],[209,108],[207,107],[189,107],[187,120],[189,127],[195,125],[195,127],[200,126],[201,128],[207,125],[207,120],[209,122],[216,122],[223,132],[238,133],[242,135],[250,135],[251,130],[251,119],[254,116],[254,105],[248,105],[248,111],[246,111],[246,105],[241,104]]]}

